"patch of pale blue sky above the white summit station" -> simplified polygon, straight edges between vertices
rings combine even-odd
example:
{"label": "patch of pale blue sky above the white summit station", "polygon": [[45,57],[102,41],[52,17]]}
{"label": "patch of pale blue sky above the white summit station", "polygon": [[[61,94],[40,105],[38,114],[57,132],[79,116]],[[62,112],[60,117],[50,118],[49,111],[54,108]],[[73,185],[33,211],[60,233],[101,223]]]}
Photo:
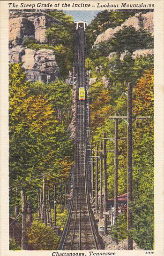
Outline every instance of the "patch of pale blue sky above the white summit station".
{"label": "patch of pale blue sky above the white summit station", "polygon": [[83,20],[83,21],[88,21],[88,24],[90,24],[91,20],[97,15],[99,11],[66,11],[64,10],[65,13],[74,16],[75,21]]}

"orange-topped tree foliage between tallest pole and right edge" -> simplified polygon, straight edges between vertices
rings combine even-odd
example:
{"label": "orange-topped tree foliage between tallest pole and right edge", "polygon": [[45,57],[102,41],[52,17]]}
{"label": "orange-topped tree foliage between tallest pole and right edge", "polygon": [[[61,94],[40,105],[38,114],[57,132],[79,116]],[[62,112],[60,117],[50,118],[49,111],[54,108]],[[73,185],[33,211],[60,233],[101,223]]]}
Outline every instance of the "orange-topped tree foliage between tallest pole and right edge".
{"label": "orange-topped tree foliage between tallest pole and right edge", "polygon": [[134,115],[148,120],[134,123],[134,239],[144,249],[154,245],[154,83],[153,69],[146,71],[134,90]]}

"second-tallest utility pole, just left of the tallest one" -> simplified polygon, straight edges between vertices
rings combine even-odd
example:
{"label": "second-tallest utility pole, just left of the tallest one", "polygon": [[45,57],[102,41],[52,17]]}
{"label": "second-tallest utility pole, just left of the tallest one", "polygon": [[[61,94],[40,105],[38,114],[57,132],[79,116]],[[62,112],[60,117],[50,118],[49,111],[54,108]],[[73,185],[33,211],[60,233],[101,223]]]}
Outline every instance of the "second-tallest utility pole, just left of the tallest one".
{"label": "second-tallest utility pole, just left of the tallest one", "polygon": [[[116,112],[117,116],[117,112]],[[114,120],[114,224],[118,217],[118,119]]]}

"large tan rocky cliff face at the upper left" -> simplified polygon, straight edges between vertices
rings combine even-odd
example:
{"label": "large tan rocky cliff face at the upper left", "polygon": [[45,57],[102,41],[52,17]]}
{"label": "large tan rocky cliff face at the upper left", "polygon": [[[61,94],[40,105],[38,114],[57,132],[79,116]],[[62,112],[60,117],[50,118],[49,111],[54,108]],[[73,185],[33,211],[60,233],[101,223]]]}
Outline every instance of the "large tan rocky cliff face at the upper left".
{"label": "large tan rocky cliff face at the upper left", "polygon": [[60,69],[51,49],[34,50],[23,47],[26,37],[45,43],[45,32],[51,24],[60,22],[43,12],[12,10],[9,13],[9,62],[22,62],[30,81],[52,82],[60,76]]}

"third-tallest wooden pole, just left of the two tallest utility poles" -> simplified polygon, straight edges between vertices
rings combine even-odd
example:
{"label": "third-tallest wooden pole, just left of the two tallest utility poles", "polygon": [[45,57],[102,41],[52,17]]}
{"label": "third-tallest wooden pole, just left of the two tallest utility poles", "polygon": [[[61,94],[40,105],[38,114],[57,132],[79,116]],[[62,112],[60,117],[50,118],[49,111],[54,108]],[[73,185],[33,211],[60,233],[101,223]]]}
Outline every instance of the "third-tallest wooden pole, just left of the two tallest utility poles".
{"label": "third-tallest wooden pole, just left of the two tallest utility poles", "polygon": [[[104,212],[108,211],[108,187],[106,166],[106,133],[104,133]],[[107,215],[104,215],[104,234],[107,234]]]}

